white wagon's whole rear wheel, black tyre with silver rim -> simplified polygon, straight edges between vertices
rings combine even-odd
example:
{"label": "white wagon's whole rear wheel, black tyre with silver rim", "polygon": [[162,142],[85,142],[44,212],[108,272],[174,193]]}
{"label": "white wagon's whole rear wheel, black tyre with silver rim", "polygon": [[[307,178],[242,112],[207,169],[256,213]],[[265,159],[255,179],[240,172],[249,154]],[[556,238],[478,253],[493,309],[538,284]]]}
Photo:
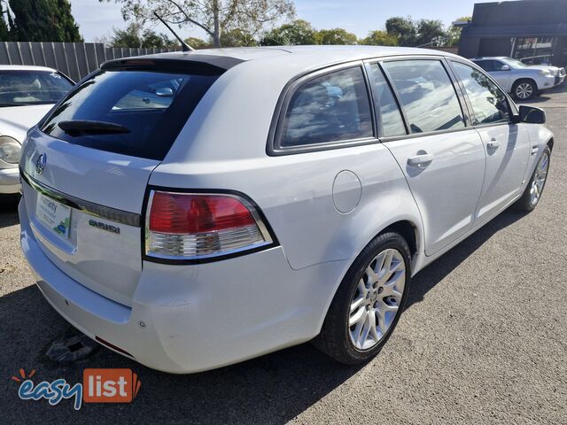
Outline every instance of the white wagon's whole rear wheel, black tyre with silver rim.
{"label": "white wagon's whole rear wheel, black tyre with silver rim", "polygon": [[338,287],[315,345],[346,365],[372,359],[400,319],[410,276],[404,238],[394,232],[374,238]]}

